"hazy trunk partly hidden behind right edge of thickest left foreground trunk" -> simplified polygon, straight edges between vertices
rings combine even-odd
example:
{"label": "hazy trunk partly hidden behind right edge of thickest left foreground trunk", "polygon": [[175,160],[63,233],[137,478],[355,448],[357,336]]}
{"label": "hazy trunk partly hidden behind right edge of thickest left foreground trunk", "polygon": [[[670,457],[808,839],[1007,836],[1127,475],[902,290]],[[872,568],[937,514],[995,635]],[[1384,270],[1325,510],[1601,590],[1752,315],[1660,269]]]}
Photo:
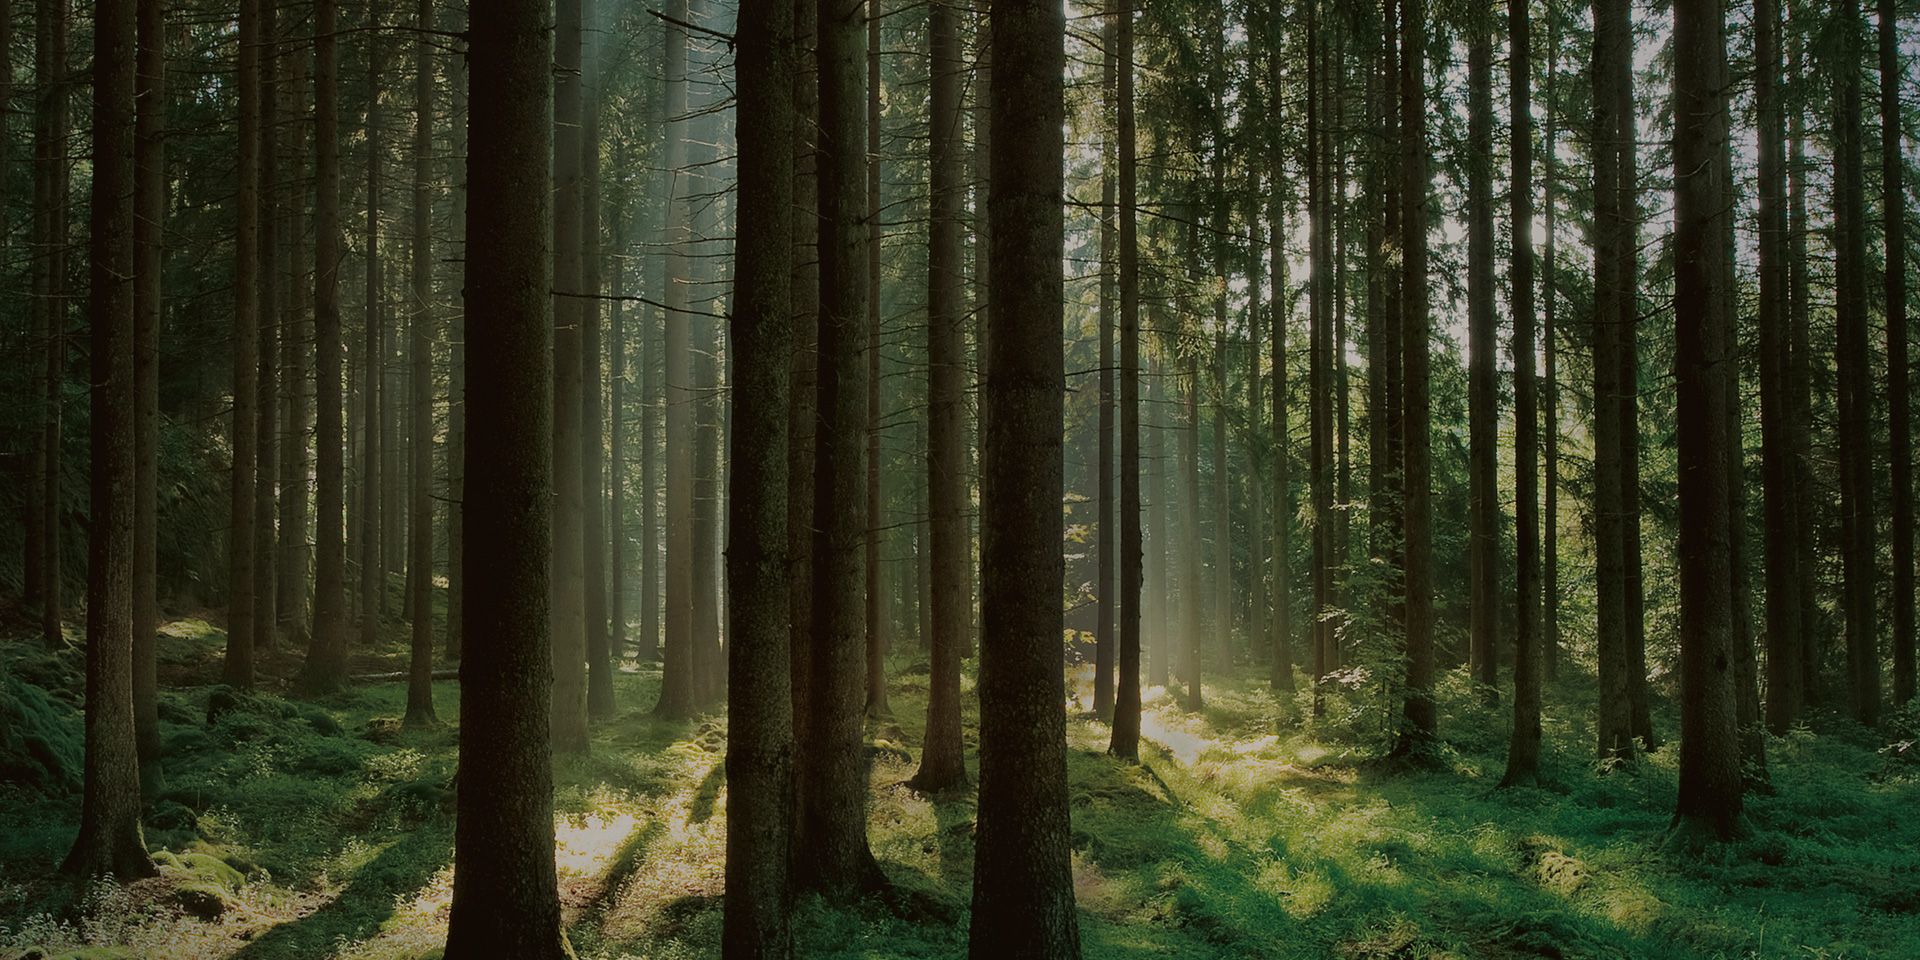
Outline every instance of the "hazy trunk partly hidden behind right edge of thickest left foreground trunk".
{"label": "hazy trunk partly hidden behind right edge of thickest left foreground trunk", "polygon": [[582,0],[553,31],[553,749],[588,751],[586,486],[582,459],[580,42]]}

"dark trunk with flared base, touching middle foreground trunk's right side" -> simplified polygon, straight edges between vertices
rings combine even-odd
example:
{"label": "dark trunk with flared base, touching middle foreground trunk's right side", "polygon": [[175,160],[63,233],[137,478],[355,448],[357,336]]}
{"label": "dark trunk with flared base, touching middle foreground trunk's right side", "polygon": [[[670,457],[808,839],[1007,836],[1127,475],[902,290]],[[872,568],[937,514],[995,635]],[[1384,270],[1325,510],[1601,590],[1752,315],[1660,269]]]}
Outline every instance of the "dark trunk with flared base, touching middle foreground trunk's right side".
{"label": "dark trunk with flared base, touching middle foreground trunk's right side", "polygon": [[820,0],[820,359],[814,434],[810,743],[799,753],[799,881],[829,900],[881,883],[866,843],[862,743],[866,584],[864,0]]}

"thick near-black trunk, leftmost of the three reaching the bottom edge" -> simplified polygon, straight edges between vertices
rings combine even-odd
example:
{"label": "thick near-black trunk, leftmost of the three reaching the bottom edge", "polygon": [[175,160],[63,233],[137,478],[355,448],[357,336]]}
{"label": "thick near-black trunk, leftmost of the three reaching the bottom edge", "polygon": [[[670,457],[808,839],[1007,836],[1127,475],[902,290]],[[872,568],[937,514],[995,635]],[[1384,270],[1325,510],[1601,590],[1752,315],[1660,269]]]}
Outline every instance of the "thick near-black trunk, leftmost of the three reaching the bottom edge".
{"label": "thick near-black trunk, leftmost of the three reaching the bottom edge", "polygon": [[468,56],[467,657],[447,958],[572,956],[553,860],[553,27],[540,0],[474,4]]}

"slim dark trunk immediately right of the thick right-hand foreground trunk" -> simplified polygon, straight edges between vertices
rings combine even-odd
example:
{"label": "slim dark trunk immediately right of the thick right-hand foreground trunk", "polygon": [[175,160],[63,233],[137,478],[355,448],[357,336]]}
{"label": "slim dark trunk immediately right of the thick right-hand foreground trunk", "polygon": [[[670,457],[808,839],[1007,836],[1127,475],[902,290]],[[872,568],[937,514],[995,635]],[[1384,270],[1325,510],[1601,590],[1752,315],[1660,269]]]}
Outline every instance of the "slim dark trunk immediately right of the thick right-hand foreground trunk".
{"label": "slim dark trunk immediately right of the thick right-hand foreground trunk", "polygon": [[1801,716],[1801,612],[1793,490],[1788,445],[1788,263],[1786,263],[1786,111],[1780,102],[1780,4],[1753,6],[1753,96],[1759,111],[1759,359],[1761,476],[1766,511],[1766,728],[1784,735]]}

